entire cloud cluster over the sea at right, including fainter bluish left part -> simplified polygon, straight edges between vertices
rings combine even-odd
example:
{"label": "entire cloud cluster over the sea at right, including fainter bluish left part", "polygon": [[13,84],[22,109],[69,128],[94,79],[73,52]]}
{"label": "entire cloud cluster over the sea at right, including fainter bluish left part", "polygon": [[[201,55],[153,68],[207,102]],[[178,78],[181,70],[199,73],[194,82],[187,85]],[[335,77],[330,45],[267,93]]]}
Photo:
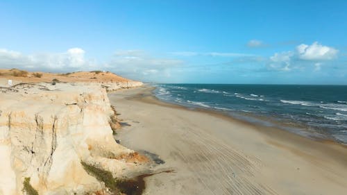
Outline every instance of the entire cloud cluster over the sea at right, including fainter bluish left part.
{"label": "entire cloud cluster over the sea at right, including fainter bluish left part", "polygon": [[337,58],[339,51],[330,46],[323,46],[318,42],[311,45],[300,44],[296,51],[275,53],[269,58],[268,67],[281,71],[290,71],[306,65],[314,65],[314,71],[321,70],[323,62]]}

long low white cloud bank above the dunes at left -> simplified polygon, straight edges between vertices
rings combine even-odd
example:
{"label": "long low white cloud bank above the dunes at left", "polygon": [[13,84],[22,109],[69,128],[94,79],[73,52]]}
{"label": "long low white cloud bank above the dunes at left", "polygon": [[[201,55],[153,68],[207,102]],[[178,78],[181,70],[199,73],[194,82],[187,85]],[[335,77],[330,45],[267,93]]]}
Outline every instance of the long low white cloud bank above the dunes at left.
{"label": "long low white cloud bank above the dunes at left", "polygon": [[[85,58],[81,48],[71,48],[62,53],[35,53],[26,55],[18,51],[0,49],[0,68],[27,69],[30,71],[113,71],[121,76],[139,80],[170,76],[169,69],[182,65],[181,60],[155,58],[142,50],[116,51],[106,63]],[[154,80],[154,79],[152,79]]]}

